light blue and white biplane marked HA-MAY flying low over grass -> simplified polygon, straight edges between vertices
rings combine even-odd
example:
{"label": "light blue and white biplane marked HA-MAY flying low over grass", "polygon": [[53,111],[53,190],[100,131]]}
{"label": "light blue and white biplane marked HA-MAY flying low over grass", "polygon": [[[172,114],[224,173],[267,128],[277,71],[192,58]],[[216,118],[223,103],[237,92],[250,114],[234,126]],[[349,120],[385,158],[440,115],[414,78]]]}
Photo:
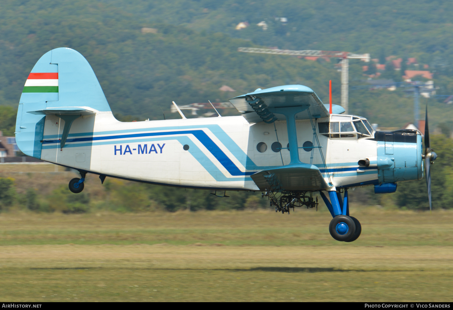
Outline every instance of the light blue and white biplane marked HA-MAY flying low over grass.
{"label": "light blue and white biplane marked HA-MAY flying low over grass", "polygon": [[259,88],[230,102],[240,116],[120,122],[87,60],[56,48],[25,82],[16,143],[29,156],[80,172],[69,181],[74,193],[83,190],[87,173],[102,183],[108,176],[261,191],[282,213],[317,207],[319,193],[333,217],[330,234],[339,241],[361,233],[349,215],[351,188],[392,193],[398,181],[420,180],[424,165],[431,207],[429,165],[437,155],[429,146],[428,119],[423,148],[418,131],[375,131],[365,118],[324,105],[307,86]]}

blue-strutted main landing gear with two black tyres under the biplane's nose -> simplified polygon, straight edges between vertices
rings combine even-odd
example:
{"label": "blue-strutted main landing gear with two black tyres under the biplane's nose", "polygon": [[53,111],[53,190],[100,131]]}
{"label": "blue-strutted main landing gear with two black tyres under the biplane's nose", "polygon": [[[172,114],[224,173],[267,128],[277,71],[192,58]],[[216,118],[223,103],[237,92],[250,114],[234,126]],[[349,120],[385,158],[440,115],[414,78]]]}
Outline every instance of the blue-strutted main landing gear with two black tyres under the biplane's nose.
{"label": "blue-strutted main landing gear with two black tyres under the biplane's nose", "polygon": [[329,191],[330,201],[322,191],[319,193],[333,217],[329,224],[329,232],[332,237],[335,240],[346,242],[352,242],[359,238],[362,227],[355,217],[349,216],[347,189],[344,190],[344,200],[340,192]]}

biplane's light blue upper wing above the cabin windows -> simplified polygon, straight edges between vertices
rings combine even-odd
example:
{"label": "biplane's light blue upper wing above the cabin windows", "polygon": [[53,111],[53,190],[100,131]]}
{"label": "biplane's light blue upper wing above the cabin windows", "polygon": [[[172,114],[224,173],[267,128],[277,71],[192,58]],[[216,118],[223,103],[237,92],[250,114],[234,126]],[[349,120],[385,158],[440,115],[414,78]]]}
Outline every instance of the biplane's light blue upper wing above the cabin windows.
{"label": "biplane's light blue upper wing above the cabin windows", "polygon": [[[297,114],[297,119],[309,119],[310,114],[313,118],[329,115],[328,109],[315,92],[303,85],[277,86],[264,90],[258,88],[254,92],[231,98],[230,102],[250,123],[261,121],[272,123],[277,119],[285,119],[275,108],[308,106],[307,110]],[[344,109],[337,106],[335,112],[340,114]]]}

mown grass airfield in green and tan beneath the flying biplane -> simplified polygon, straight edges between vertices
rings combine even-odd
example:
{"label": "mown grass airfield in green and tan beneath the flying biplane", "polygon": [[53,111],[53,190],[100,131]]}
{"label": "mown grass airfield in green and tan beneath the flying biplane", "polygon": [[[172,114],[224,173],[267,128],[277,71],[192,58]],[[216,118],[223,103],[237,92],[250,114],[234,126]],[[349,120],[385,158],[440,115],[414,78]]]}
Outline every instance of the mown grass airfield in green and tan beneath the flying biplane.
{"label": "mown grass airfield in green and tan beneath the flying biplane", "polygon": [[453,212],[0,214],[1,301],[452,301]]}

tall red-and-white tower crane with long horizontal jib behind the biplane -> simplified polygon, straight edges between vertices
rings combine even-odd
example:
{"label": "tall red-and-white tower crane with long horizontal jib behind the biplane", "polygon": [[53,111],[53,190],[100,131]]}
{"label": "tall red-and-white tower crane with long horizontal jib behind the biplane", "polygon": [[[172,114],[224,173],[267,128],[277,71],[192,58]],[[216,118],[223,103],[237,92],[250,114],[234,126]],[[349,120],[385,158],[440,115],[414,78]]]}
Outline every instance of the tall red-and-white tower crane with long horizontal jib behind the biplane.
{"label": "tall red-and-white tower crane with long horizontal jib behind the biplane", "polygon": [[355,54],[351,52],[334,52],[334,51],[290,51],[286,49],[268,49],[268,48],[238,48],[238,52],[261,53],[261,54],[279,54],[294,56],[315,56],[315,57],[336,57],[341,59],[341,106],[348,114],[349,100],[349,59],[360,59],[365,62],[370,61],[370,54]]}

